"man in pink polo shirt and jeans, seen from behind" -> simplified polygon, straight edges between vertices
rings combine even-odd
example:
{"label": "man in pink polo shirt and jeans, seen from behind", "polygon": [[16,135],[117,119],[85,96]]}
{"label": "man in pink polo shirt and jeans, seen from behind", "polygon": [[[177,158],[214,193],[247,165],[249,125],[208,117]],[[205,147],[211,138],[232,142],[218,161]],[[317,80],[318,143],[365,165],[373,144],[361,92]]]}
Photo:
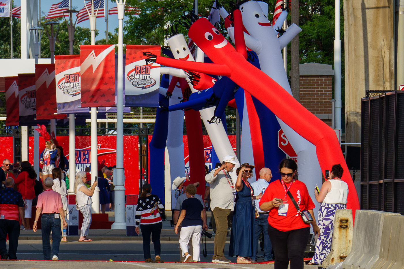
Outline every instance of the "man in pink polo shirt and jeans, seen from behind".
{"label": "man in pink polo shirt and jeans, seen from behind", "polygon": [[59,244],[60,244],[60,225],[63,221],[63,227],[67,227],[65,221],[62,198],[59,193],[52,190],[53,179],[47,177],[44,180],[45,190],[38,196],[38,203],[36,204],[36,216],[34,222],[34,232],[36,232],[36,226],[40,214],[41,217],[41,232],[42,232],[42,250],[44,252],[44,260],[50,260],[50,243],[49,234],[52,231],[52,249],[53,249],[53,261],[58,261],[59,257]]}

